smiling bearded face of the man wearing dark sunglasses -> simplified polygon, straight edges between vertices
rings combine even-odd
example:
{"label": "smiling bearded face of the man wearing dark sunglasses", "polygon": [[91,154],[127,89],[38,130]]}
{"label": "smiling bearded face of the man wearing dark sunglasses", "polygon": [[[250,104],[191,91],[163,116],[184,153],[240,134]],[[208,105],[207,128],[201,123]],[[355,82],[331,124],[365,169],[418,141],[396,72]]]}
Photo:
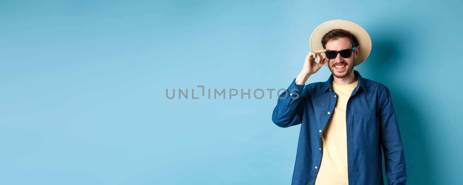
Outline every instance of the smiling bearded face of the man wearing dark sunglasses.
{"label": "smiling bearded face of the man wearing dark sunglasses", "polygon": [[[335,50],[335,51],[341,51],[343,49],[351,49],[352,44],[350,43],[349,38],[338,38],[337,40],[330,40],[326,43],[325,48],[327,51],[329,50]],[[357,46],[359,48],[359,46]],[[347,75],[352,72],[354,69],[354,64],[355,61],[354,59],[358,55],[358,50],[357,48],[355,51],[350,55],[349,58],[343,58],[341,57],[341,54],[338,54],[335,59],[330,59],[328,61],[328,67],[330,68],[330,71],[333,73],[333,76],[337,78],[344,78],[347,77]],[[342,66],[342,67],[336,67],[336,66]]]}

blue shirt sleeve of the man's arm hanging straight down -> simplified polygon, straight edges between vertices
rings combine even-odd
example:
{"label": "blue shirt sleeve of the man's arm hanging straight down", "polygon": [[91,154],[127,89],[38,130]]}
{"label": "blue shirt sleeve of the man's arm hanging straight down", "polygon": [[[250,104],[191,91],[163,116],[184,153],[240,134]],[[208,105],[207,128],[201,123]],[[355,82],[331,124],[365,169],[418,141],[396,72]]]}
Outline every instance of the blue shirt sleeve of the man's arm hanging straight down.
{"label": "blue shirt sleeve of the man's arm hanging straight down", "polygon": [[378,104],[380,134],[388,185],[405,185],[407,172],[399,125],[389,89],[383,86],[381,91]]}

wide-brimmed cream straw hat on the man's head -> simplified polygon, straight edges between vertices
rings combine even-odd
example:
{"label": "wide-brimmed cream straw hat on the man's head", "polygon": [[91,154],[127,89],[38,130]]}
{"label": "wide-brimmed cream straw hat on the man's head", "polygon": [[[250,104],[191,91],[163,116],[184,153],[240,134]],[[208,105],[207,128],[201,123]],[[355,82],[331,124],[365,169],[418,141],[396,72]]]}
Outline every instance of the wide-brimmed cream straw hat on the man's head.
{"label": "wide-brimmed cream straw hat on the man's head", "polygon": [[[349,31],[358,42],[359,51],[358,56],[355,59],[354,66],[359,65],[364,60],[367,59],[368,55],[371,51],[371,39],[368,35],[367,31],[363,29],[358,24],[352,23],[350,21],[336,19],[331,21],[326,21],[325,23],[320,24],[315,30],[313,30],[312,35],[310,36],[309,43],[310,43],[310,50],[311,51],[318,51],[323,49],[321,45],[321,38],[325,36],[326,33],[333,29],[343,29]],[[326,58],[325,53],[320,53],[323,58]],[[325,63],[325,66],[328,67],[328,62]]]}

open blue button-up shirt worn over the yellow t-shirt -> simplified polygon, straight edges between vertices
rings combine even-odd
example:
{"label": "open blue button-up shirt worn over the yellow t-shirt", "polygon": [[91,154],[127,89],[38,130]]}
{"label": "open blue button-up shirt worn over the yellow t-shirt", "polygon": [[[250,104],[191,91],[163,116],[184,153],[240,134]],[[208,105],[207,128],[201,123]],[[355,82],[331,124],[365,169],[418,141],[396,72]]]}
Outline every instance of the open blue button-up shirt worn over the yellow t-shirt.
{"label": "open blue button-up shirt worn over the yellow t-shirt", "polygon": [[[356,70],[354,74],[358,84],[346,106],[349,185],[384,184],[381,149],[388,185],[405,185],[405,156],[389,89],[362,78]],[[295,84],[294,78],[273,110],[275,125],[286,128],[301,124],[291,185],[313,185],[317,177],[322,157],[320,137],[337,101],[332,81],[333,74],[325,82],[304,86]]]}

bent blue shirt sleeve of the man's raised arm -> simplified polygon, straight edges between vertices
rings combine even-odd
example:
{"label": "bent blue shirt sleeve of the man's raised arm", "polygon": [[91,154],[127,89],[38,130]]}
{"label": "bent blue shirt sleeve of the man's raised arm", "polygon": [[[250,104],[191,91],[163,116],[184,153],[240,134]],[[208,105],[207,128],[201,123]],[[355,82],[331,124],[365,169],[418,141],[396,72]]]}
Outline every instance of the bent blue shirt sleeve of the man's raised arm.
{"label": "bent blue shirt sleeve of the man's raised arm", "polygon": [[288,89],[278,96],[278,101],[273,110],[273,123],[283,128],[299,125],[302,122],[308,90],[307,87],[304,88],[304,85],[296,84],[295,80],[296,78],[294,78]]}

